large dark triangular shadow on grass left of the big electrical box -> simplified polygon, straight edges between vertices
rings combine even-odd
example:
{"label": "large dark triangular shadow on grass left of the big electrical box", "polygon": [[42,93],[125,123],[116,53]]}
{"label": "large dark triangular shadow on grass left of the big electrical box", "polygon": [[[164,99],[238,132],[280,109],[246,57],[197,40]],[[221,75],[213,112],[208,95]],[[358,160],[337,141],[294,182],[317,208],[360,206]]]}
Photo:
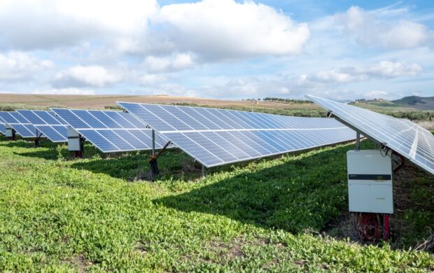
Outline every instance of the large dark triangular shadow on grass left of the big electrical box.
{"label": "large dark triangular shadow on grass left of the big electrical box", "polygon": [[312,151],[295,160],[282,160],[281,165],[243,172],[155,202],[262,228],[321,230],[348,206],[345,153],[351,148]]}

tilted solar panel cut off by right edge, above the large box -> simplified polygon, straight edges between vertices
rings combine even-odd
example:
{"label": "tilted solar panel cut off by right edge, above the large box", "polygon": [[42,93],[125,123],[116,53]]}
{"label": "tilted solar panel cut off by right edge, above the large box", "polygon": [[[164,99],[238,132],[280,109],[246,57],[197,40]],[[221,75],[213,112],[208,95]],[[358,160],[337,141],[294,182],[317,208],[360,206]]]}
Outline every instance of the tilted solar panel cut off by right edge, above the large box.
{"label": "tilted solar panel cut off by right edge, above the large box", "polygon": [[410,120],[393,118],[330,99],[307,95],[343,123],[434,174],[434,136]]}

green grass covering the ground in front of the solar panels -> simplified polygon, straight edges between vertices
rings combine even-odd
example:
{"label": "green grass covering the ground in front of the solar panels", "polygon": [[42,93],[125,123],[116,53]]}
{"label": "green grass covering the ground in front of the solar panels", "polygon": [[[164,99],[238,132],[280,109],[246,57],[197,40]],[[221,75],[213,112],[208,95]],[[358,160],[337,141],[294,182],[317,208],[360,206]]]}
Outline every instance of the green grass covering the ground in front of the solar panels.
{"label": "green grass covering the ground in front of the solar panels", "polygon": [[[179,151],[69,160],[0,141],[0,272],[430,271],[433,254],[320,235],[346,211],[352,145],[209,170]],[[369,144],[363,142],[363,146]],[[421,193],[414,193],[420,195]],[[419,214],[418,214],[419,215]]]}

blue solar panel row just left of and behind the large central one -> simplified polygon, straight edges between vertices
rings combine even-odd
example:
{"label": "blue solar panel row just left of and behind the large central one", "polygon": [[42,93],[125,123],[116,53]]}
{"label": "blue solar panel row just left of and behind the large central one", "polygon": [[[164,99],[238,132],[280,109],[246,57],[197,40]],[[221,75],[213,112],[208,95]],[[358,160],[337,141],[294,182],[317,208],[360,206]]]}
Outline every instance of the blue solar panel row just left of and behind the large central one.
{"label": "blue solar panel row just left of and behind the large central one", "polygon": [[[71,109],[52,111],[104,153],[152,149],[152,130],[130,113]],[[162,148],[165,142],[165,139],[155,136],[155,148]]]}

